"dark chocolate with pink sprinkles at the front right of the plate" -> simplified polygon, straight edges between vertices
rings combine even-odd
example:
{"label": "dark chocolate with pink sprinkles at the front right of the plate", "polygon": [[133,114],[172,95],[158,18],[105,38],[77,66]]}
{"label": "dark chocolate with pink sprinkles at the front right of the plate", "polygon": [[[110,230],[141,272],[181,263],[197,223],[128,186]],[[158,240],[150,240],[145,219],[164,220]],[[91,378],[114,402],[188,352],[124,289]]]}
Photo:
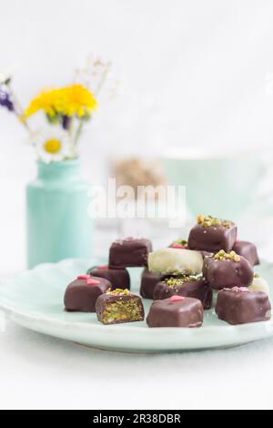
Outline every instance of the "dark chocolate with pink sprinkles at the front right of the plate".
{"label": "dark chocolate with pink sprinkles at the front right of the plate", "polygon": [[221,290],[217,297],[216,313],[219,320],[231,325],[268,321],[271,305],[268,295],[262,291]]}

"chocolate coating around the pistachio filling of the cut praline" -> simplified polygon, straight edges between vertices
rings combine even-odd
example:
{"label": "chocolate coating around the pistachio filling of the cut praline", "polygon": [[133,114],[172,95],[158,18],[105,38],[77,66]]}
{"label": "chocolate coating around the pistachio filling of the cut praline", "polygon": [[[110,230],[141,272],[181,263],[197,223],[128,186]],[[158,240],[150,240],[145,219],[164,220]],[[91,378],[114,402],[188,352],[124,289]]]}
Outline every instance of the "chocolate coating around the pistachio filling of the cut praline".
{"label": "chocolate coating around the pistachio filling of the cut praline", "polygon": [[[123,302],[126,304],[126,302],[128,301],[133,301],[136,303],[140,313],[139,318],[135,319],[133,314],[131,314],[126,320],[116,319],[112,321],[106,321],[104,319],[104,311],[106,311],[108,305],[111,305],[116,302]],[[102,294],[96,301],[96,316],[97,320],[103,322],[104,324],[121,324],[124,322],[143,321],[145,312],[141,298],[139,296],[136,296],[136,294],[129,293],[127,295],[113,295],[111,293],[106,293]]]}

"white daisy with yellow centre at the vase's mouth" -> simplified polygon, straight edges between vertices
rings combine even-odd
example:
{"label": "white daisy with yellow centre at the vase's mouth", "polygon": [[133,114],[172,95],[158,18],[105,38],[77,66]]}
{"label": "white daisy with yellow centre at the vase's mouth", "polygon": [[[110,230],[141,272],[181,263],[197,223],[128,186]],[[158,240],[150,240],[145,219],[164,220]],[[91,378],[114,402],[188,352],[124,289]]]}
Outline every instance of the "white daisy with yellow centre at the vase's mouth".
{"label": "white daisy with yellow centre at the vase's mouth", "polygon": [[61,127],[46,127],[31,134],[29,143],[36,148],[37,157],[45,163],[75,158],[71,138]]}

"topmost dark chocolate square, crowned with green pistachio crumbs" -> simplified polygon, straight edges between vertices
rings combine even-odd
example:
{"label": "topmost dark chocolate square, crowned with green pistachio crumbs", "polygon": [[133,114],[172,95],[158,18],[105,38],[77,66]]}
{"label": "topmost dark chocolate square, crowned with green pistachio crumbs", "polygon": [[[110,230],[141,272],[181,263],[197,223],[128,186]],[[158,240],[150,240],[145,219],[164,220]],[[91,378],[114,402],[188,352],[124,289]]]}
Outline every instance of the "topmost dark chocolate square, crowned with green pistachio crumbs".
{"label": "topmost dark chocolate square, crowned with green pistachio crumbs", "polygon": [[189,232],[188,248],[213,253],[218,250],[229,252],[236,239],[237,227],[232,221],[198,216],[197,225]]}

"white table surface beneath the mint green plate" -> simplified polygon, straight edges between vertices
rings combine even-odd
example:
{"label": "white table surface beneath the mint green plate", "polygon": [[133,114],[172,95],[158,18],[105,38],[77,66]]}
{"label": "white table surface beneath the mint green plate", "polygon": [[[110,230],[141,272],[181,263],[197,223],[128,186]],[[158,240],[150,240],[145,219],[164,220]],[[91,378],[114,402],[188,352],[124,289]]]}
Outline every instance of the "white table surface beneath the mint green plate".
{"label": "white table surface beneath the mint green plate", "polygon": [[[25,264],[16,213],[2,211],[0,283]],[[272,260],[271,226],[267,219],[266,241],[257,228],[248,236]],[[88,349],[10,321],[0,332],[1,409],[262,409],[273,407],[272,383],[273,338],[224,351],[144,355]]]}

